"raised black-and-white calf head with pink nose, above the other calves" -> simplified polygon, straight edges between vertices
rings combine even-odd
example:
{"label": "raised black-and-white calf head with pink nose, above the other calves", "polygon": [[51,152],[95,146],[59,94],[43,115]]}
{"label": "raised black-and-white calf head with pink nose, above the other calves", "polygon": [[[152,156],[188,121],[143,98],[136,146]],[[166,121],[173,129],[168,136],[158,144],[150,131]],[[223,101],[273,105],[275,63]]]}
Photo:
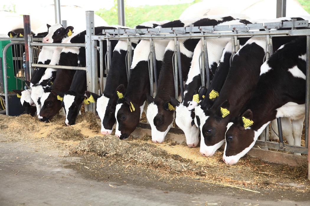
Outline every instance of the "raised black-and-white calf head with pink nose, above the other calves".
{"label": "raised black-and-white calf head with pink nose, above the other calves", "polygon": [[60,43],[66,36],[71,36],[73,27],[62,27],[60,23],[56,23],[53,26],[47,24],[48,34],[42,40],[43,43]]}

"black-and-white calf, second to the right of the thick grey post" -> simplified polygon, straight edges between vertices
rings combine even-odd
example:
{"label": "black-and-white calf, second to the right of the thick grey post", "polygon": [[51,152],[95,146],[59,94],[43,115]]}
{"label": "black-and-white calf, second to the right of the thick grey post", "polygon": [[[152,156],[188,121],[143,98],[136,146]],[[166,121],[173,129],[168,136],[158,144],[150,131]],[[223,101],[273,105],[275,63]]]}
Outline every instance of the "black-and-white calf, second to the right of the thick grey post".
{"label": "black-and-white calf, second to the right of the thick grey post", "polygon": [[[164,23],[158,27],[173,27],[172,25],[184,25],[179,20]],[[164,58],[165,48],[169,40],[154,40],[157,75]],[[120,139],[127,138],[139,124],[147,94],[150,92],[150,81],[148,72],[148,55],[150,45],[148,40],[141,40],[135,48],[132,65],[130,68],[130,79],[126,95],[117,100],[115,118],[115,135]],[[120,85],[116,92],[125,92],[124,85]]]}

